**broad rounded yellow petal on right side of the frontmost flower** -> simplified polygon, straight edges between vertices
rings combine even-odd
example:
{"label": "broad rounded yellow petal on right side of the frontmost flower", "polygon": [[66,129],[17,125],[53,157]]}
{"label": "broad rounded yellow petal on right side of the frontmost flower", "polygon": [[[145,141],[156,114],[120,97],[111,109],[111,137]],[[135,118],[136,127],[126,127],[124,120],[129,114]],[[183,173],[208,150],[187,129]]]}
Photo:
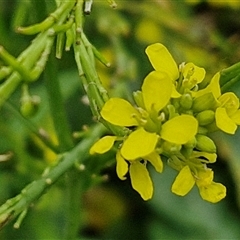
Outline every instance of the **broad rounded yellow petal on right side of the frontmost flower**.
{"label": "broad rounded yellow petal on right side of the frontmost flower", "polygon": [[184,144],[197,133],[198,121],[190,115],[174,117],[162,125],[161,137],[171,143]]}

